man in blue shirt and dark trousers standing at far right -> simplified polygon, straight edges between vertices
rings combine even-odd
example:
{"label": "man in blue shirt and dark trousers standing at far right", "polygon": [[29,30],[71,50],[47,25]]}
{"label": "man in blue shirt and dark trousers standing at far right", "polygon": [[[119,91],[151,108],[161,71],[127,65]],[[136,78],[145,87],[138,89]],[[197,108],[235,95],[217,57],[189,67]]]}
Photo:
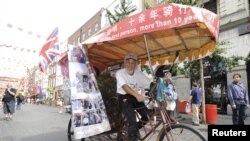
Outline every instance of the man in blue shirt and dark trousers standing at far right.
{"label": "man in blue shirt and dark trousers standing at far right", "polygon": [[227,96],[231,105],[233,114],[233,125],[244,125],[246,118],[246,108],[249,107],[249,98],[246,88],[240,82],[241,75],[236,73],[233,75],[233,82],[228,85]]}

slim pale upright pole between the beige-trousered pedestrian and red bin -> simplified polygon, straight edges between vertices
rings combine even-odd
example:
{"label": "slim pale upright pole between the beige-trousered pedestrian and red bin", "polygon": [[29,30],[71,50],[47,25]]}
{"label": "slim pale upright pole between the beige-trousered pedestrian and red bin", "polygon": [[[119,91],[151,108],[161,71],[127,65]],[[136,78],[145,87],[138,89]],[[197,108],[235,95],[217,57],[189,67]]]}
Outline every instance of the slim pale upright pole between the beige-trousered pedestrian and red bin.
{"label": "slim pale upright pole between the beige-trousered pedestrian and red bin", "polygon": [[206,109],[205,109],[205,89],[204,89],[204,73],[203,73],[203,61],[200,59],[200,81],[201,81],[201,93],[202,93],[202,122],[206,124]]}

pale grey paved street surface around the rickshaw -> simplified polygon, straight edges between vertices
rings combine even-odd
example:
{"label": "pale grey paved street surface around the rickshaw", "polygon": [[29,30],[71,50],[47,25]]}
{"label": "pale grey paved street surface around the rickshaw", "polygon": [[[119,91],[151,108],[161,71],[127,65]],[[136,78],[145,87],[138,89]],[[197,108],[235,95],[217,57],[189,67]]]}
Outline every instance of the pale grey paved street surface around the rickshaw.
{"label": "pale grey paved street surface around the rickshaw", "polygon": [[[191,124],[191,115],[180,114],[181,122]],[[4,121],[0,112],[0,141],[67,141],[70,115],[59,114],[58,109],[47,105],[23,105],[16,111],[13,121]],[[231,116],[218,115],[218,124],[231,124]],[[246,124],[250,125],[250,117]],[[207,137],[207,125],[193,126]],[[157,131],[159,131],[158,129]],[[97,140],[98,138],[94,139]],[[156,134],[149,141],[156,139]],[[103,141],[103,138],[100,139]],[[86,139],[90,141],[90,139]]]}

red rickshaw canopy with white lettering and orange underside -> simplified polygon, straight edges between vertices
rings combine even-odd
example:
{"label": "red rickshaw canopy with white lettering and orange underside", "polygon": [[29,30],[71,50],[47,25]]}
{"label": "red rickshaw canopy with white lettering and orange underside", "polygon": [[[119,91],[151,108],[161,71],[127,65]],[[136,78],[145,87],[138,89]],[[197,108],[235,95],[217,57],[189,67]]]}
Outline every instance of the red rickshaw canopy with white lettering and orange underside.
{"label": "red rickshaw canopy with white lettering and orange underside", "polygon": [[82,45],[100,70],[120,64],[128,52],[141,64],[172,64],[210,55],[218,40],[219,17],[203,8],[163,4],[110,26]]}

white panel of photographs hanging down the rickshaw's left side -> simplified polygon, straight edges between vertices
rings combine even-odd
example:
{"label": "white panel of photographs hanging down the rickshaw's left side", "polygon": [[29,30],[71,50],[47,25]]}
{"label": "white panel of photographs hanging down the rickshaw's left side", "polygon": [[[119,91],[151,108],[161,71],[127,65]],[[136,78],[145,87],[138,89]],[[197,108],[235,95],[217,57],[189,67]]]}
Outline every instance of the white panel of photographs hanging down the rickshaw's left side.
{"label": "white panel of photographs hanging down the rickshaw's left side", "polygon": [[74,47],[60,60],[64,92],[70,95],[75,139],[110,130],[102,95],[83,49]]}

